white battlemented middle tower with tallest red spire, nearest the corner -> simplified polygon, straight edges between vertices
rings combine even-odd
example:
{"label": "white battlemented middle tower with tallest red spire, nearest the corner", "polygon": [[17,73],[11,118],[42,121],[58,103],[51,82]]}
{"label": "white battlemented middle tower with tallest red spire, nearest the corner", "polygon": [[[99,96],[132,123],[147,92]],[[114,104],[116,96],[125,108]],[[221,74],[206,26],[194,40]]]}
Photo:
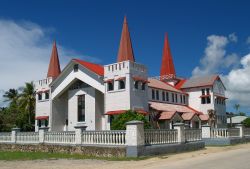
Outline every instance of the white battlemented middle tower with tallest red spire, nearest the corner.
{"label": "white battlemented middle tower with tallest red spire, nearest the corner", "polygon": [[117,62],[104,66],[105,113],[126,110],[148,111],[147,68],[135,62],[126,17],[124,18]]}

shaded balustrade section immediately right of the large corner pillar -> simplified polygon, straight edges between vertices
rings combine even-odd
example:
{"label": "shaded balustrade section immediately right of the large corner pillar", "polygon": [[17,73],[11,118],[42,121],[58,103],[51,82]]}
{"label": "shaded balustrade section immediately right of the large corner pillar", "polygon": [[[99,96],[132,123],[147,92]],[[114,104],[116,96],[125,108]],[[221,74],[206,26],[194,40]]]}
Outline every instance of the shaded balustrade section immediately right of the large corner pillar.
{"label": "shaded balustrade section immediately right of the large corner pillar", "polygon": [[178,143],[177,130],[145,130],[145,144],[171,144]]}

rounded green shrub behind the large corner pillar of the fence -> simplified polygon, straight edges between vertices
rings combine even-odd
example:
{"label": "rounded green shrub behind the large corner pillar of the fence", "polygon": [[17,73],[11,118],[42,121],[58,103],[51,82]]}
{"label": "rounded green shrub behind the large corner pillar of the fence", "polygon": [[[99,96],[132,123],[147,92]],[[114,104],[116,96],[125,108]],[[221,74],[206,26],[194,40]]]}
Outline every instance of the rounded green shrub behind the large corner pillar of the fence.
{"label": "rounded green shrub behind the large corner pillar of the fence", "polygon": [[125,130],[126,123],[132,120],[144,122],[144,128],[150,128],[149,122],[146,117],[136,111],[128,110],[125,113],[116,115],[111,122],[111,130]]}

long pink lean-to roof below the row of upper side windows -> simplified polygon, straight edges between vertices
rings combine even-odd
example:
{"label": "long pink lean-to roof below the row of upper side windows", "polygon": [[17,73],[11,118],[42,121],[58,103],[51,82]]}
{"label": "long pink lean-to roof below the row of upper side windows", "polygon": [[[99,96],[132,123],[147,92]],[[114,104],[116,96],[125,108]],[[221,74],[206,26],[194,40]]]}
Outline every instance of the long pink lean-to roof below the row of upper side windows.
{"label": "long pink lean-to roof below the row of upper side windows", "polygon": [[150,107],[163,112],[180,112],[180,113],[196,113],[201,114],[201,112],[194,110],[185,105],[178,105],[178,104],[168,104],[168,103],[159,103],[159,102],[149,102]]}

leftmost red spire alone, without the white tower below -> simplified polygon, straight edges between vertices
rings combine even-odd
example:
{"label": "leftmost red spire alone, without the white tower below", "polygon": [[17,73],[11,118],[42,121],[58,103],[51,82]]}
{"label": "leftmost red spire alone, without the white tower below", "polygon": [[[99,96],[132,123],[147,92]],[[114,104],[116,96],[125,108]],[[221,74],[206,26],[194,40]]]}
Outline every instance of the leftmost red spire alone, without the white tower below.
{"label": "leftmost red spire alone, without the white tower below", "polygon": [[56,41],[53,43],[47,77],[56,78],[61,73],[60,62],[57,53]]}

